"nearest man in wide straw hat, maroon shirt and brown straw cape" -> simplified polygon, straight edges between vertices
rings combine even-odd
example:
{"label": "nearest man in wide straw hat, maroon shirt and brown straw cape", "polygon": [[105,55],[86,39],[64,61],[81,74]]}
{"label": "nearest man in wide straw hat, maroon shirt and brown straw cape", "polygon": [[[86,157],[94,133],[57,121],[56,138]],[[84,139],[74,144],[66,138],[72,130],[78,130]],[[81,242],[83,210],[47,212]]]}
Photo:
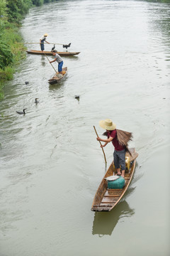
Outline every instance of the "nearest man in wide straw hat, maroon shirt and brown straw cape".
{"label": "nearest man in wide straw hat, maroon shirt and brown straw cape", "polygon": [[[125,176],[125,151],[128,151],[128,141],[131,139],[132,134],[130,132],[124,132],[118,129],[115,129],[116,126],[113,124],[111,119],[101,120],[99,125],[106,129],[106,134],[108,139],[101,139],[97,137],[97,140],[100,142],[105,142],[101,147],[106,146],[109,142],[112,142],[115,147],[115,151],[113,153],[115,169],[117,171],[118,176]],[[103,135],[106,135],[103,134]],[[121,165],[121,171],[120,171]]]}

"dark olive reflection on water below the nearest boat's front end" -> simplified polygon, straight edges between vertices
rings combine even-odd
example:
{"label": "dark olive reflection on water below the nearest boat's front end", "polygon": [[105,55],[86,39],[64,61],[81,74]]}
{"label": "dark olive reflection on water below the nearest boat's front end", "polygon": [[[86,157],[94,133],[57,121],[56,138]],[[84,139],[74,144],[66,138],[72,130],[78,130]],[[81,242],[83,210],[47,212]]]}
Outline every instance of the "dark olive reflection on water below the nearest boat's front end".
{"label": "dark olive reflection on water below the nearest boat's front end", "polygon": [[111,235],[120,218],[130,218],[135,210],[126,201],[120,202],[111,212],[95,213],[92,234]]}

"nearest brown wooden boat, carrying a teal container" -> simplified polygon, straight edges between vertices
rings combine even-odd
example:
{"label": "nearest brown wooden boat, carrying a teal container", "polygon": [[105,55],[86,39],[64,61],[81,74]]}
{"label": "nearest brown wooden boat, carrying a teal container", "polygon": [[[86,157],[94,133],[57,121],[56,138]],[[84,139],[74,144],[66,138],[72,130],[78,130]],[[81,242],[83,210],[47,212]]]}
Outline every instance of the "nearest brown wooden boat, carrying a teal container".
{"label": "nearest brown wooden boat, carrying a teal container", "polygon": [[93,211],[110,211],[112,210],[118,202],[123,198],[123,195],[128,189],[130,185],[130,181],[132,180],[132,176],[135,171],[136,158],[138,154],[135,152],[135,149],[130,149],[130,154],[126,154],[127,159],[130,164],[129,170],[125,171],[125,186],[122,189],[109,189],[108,182],[106,181],[106,177],[113,176],[115,174],[115,169],[113,162],[111,166],[106,171],[105,176],[103,177],[98,190],[96,191],[96,195],[94,196],[94,201],[91,206],[91,210]]}

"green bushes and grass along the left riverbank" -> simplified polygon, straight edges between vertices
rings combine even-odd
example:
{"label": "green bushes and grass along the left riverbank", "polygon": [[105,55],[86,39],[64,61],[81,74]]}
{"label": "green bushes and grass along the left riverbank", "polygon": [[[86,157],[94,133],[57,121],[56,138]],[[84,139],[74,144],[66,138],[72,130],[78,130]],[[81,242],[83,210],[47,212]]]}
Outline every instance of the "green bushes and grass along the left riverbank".
{"label": "green bushes and grass along the left riverbank", "polygon": [[4,97],[6,80],[13,78],[16,65],[26,57],[26,48],[18,32],[23,17],[30,7],[57,0],[0,0],[0,100]]}

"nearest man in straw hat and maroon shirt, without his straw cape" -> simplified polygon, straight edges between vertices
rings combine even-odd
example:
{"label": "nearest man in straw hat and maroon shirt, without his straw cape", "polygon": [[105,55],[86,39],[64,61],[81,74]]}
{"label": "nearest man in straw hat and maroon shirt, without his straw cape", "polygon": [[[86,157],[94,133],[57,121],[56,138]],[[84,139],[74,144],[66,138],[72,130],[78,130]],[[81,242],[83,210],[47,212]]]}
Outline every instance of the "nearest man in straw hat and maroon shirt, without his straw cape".
{"label": "nearest man in straw hat and maroon shirt, without his straw cape", "polygon": [[[105,142],[105,144],[101,145],[101,147],[106,146],[109,142],[112,142],[113,146],[115,147],[115,151],[113,153],[115,169],[117,171],[118,176],[125,177],[125,146],[120,145],[118,141],[116,126],[113,124],[111,119],[101,120],[99,125],[106,129],[108,139],[101,139],[97,137],[97,140],[100,142]],[[121,171],[120,171],[121,165]]]}

